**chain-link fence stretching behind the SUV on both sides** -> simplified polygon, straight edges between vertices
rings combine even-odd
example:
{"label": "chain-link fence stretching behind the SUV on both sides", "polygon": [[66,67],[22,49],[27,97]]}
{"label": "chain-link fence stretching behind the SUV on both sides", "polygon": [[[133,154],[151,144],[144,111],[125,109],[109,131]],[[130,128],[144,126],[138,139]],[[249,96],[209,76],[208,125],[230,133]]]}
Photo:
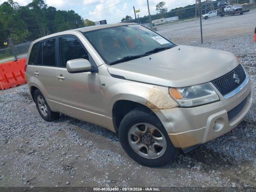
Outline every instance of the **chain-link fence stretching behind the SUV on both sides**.
{"label": "chain-link fence stretching behind the SUV on both sides", "polygon": [[[177,44],[194,45],[241,36],[252,36],[253,40],[256,27],[255,0],[239,0],[240,4],[237,4],[237,0],[228,0],[226,4],[223,0],[195,2],[185,8],[125,22],[152,28]],[[8,46],[0,48],[0,63],[25,58],[30,43],[17,44],[13,39],[8,39]]]}

